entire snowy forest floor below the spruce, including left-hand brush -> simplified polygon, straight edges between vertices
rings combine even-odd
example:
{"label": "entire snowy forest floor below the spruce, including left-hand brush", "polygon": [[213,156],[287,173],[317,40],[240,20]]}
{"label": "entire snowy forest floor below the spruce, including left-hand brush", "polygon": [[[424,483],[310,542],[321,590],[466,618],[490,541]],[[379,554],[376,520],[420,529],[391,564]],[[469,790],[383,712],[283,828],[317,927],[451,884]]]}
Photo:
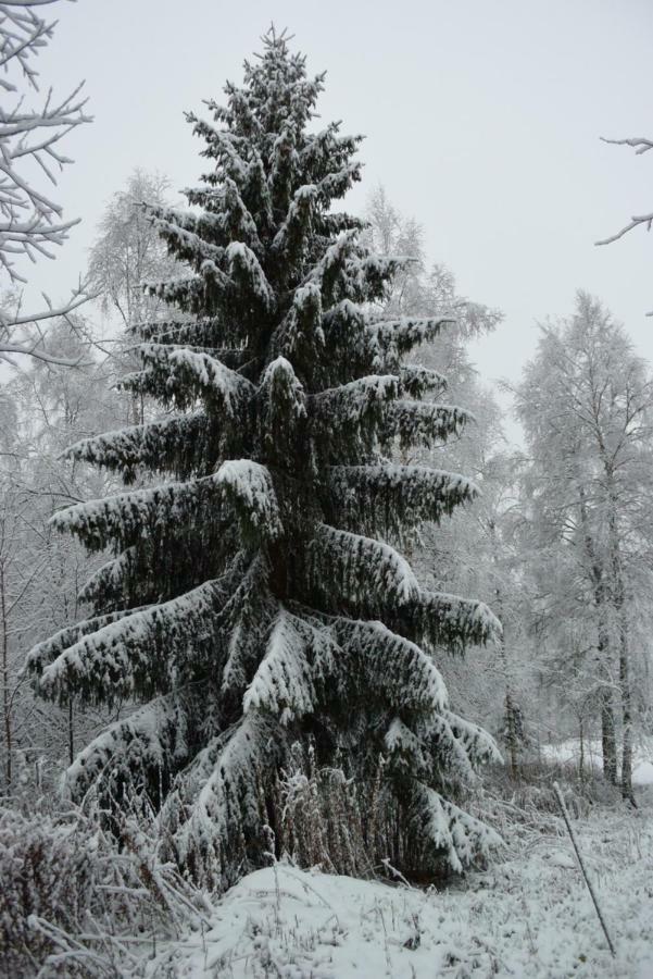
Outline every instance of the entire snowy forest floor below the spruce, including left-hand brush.
{"label": "entire snowy forest floor below the spruce, including left-hand brush", "polygon": [[[155,819],[116,847],[95,809],[0,807],[5,979],[653,979],[653,784],[637,808],[544,759],[490,768],[466,807],[505,841],[485,870],[422,889],[287,862],[212,897],[161,862]],[[564,752],[562,753],[564,755]],[[558,780],[612,941],[579,872]]]}

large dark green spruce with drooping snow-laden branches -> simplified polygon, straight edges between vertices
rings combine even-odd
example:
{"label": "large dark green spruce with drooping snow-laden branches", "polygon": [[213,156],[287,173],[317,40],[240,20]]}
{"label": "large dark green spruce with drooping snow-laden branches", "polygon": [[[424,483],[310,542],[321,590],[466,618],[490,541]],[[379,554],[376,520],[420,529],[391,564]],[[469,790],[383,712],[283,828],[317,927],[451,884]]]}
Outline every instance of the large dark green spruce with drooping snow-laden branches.
{"label": "large dark green spruce with drooping snow-laden branches", "polygon": [[120,801],[145,786],[176,858],[213,885],[263,859],[266,823],[282,846],[276,785],[298,741],[341,759],[362,798],[382,756],[377,810],[402,842],[371,841],[372,858],[457,870],[495,839],[452,802],[495,748],[450,711],[432,656],[499,627],[424,591],[388,543],[476,492],[388,461],[466,422],[429,399],[438,373],[404,363],[443,321],[372,312],[402,260],[369,253],[362,222],[331,209],[360,177],[360,137],[310,128],[324,76],[274,32],[244,76],[214,123],[189,116],[211,164],[192,209],[151,211],[189,268],[152,286],[181,315],[140,329],[126,384],[168,413],[71,449],[126,483],[172,481],[59,515],[115,557],[84,590],[96,617],[30,667],[47,697],[143,702],[67,788],[99,781]]}

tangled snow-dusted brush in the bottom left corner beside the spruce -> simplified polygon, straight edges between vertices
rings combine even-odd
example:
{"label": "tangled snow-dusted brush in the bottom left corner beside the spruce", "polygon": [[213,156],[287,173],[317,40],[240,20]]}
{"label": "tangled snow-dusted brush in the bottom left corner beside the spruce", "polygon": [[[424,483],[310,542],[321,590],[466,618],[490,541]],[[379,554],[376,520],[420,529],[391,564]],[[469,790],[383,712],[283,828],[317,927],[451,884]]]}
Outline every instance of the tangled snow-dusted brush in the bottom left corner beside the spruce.
{"label": "tangled snow-dusted brush in the bottom left corner beside the spruce", "polygon": [[131,975],[199,927],[204,899],[159,859],[153,821],[122,814],[118,847],[98,817],[0,809],[0,975]]}

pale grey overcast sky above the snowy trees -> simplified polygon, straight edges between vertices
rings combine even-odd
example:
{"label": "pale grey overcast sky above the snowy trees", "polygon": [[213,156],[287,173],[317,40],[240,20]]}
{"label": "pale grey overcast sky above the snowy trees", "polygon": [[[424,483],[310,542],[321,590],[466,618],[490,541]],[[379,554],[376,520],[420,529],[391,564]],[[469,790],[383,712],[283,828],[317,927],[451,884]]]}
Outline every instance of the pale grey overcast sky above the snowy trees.
{"label": "pale grey overcast sky above the snowy trees", "polygon": [[53,296],[83,271],[108,197],[135,166],[196,182],[200,142],[184,120],[241,79],[274,20],[312,72],[327,70],[323,119],[366,134],[362,210],[386,186],[424,225],[430,258],[505,322],[474,351],[488,381],[516,380],[538,320],[600,296],[653,360],[653,239],[593,241],[653,209],[653,152],[599,139],[653,136],[651,0],[78,0],[55,3],[41,75],[81,78],[95,122],[68,138],[59,197],[83,224],[32,277]]}

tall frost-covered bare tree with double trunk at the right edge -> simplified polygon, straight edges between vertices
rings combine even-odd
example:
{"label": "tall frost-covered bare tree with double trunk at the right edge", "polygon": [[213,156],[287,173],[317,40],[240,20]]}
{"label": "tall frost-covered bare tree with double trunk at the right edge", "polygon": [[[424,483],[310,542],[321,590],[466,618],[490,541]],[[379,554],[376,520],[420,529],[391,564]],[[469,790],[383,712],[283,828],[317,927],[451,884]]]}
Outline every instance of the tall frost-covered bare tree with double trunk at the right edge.
{"label": "tall frost-covered bare tree with double trunk at the right edge", "polygon": [[[653,383],[624,329],[579,293],[575,314],[547,327],[517,393],[532,457],[538,560],[553,617],[587,622],[606,777],[632,798],[632,650],[637,598],[651,587]],[[562,582],[562,585],[561,585]]]}

